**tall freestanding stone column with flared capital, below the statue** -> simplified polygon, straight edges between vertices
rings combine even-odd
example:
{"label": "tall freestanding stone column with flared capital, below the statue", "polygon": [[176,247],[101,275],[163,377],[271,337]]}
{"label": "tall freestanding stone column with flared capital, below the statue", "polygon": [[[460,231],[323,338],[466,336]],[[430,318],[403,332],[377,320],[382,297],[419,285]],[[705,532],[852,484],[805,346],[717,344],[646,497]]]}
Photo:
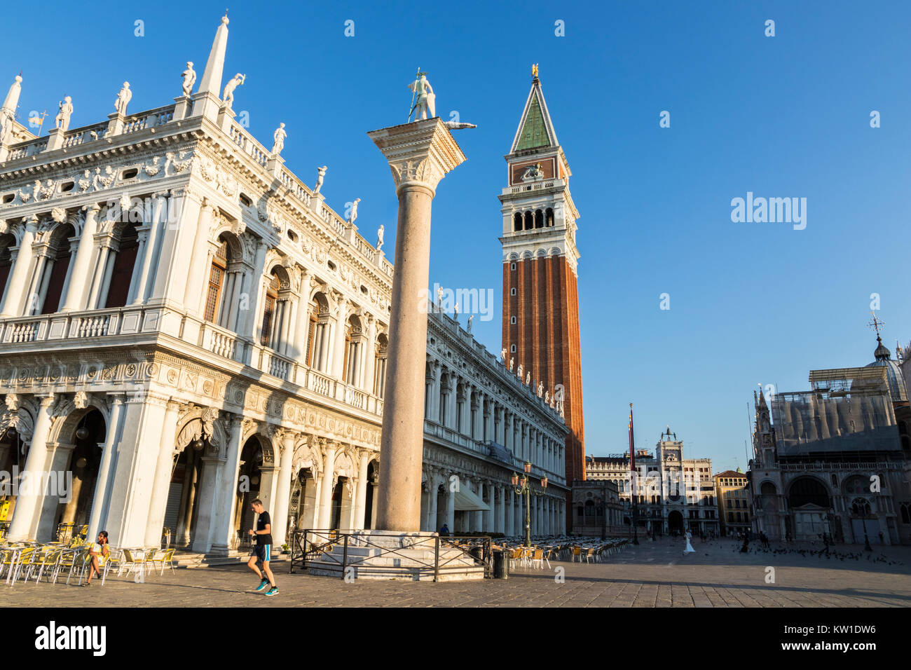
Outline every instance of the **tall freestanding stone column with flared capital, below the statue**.
{"label": "tall freestanding stone column with flared capital, below the statue", "polygon": [[389,161],[399,199],[381,447],[385,479],[377,500],[377,525],[388,531],[419,531],[427,348],[427,317],[420,312],[419,298],[429,280],[436,185],[465,154],[438,118],[368,135]]}

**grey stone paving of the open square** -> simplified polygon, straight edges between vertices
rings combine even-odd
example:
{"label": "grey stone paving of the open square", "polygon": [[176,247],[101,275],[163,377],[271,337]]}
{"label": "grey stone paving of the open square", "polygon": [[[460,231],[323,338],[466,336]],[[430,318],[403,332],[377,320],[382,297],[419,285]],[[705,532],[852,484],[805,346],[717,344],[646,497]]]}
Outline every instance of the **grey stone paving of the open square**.
{"label": "grey stone paving of the open square", "polygon": [[[743,554],[736,541],[642,541],[605,562],[551,562],[550,569],[515,570],[508,580],[478,582],[353,582],[315,577],[273,563],[280,594],[266,598],[245,566],[166,571],[144,583],[108,575],[90,588],[63,583],[6,586],[5,607],[871,607],[911,604],[911,547],[839,546],[827,559],[792,545],[781,553]],[[796,548],[796,549],[795,549]],[[818,551],[821,547],[813,549]],[[801,553],[800,551],[803,551]],[[878,559],[878,560],[875,560]],[[774,582],[767,583],[768,568]],[[564,581],[558,579],[564,569]]]}

